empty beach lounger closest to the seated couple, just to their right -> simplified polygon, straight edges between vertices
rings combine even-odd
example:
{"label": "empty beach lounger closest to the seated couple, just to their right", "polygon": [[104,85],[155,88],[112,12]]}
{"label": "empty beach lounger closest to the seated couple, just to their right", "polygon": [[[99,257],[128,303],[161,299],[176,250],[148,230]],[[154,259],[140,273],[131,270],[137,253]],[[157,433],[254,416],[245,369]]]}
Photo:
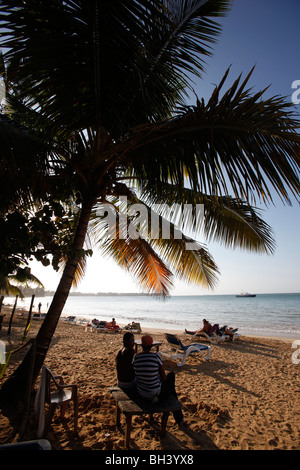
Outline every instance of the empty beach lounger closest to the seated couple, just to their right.
{"label": "empty beach lounger closest to the seated couple, just to their right", "polygon": [[[175,360],[179,367],[183,366],[192,353],[200,353],[205,361],[208,361],[210,358],[211,346],[206,346],[200,343],[189,344],[185,346],[180,341],[177,335],[172,335],[170,333],[165,333],[165,338],[169,344],[168,351],[160,351],[162,358]],[[206,351],[206,355],[204,355]]]}

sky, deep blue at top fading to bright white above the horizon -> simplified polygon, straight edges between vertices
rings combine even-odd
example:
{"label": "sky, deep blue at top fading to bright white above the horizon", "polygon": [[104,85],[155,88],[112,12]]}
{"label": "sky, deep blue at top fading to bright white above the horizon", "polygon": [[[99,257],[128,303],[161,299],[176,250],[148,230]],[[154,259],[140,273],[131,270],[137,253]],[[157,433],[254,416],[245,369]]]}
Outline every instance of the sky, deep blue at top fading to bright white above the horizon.
{"label": "sky, deep blue at top fading to bright white above the horizon", "polygon": [[[226,69],[231,66],[227,88],[240,73],[246,76],[255,65],[250,79],[253,91],[271,85],[266,96],[282,95],[288,100],[300,98],[300,2],[299,0],[235,0],[227,17],[221,19],[222,33],[206,60],[206,72],[195,84],[195,91],[205,100],[211,95]],[[299,81],[296,88],[292,84]],[[226,87],[224,89],[227,89]],[[295,104],[299,113],[300,104]],[[214,290],[187,285],[174,279],[171,295],[216,295],[300,292],[300,207],[276,200],[276,205],[261,206],[263,218],[272,227],[276,241],[273,255],[229,250],[216,243],[207,248],[217,263],[220,275]],[[206,242],[205,240],[200,240]],[[31,264],[32,272],[46,289],[55,290],[60,276],[51,267]],[[94,251],[87,272],[76,289],[80,292],[141,292],[138,282],[114,261]]]}

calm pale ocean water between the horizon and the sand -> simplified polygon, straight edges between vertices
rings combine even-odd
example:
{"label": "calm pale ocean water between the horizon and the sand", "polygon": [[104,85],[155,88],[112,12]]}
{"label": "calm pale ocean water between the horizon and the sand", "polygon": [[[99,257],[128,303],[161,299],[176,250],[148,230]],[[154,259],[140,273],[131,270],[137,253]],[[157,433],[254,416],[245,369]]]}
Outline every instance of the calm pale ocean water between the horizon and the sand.
{"label": "calm pale ocean water between the horizon and the sand", "polygon": [[[18,302],[29,307],[31,298]],[[12,303],[13,300],[11,299]],[[47,312],[51,297],[36,297],[34,311],[42,303]],[[206,318],[239,329],[239,333],[255,336],[280,336],[300,339],[300,293],[258,294],[253,298],[235,295],[172,296],[165,300],[153,296],[69,296],[63,317],[110,321],[120,325],[139,322],[142,329],[164,331],[202,328]]]}

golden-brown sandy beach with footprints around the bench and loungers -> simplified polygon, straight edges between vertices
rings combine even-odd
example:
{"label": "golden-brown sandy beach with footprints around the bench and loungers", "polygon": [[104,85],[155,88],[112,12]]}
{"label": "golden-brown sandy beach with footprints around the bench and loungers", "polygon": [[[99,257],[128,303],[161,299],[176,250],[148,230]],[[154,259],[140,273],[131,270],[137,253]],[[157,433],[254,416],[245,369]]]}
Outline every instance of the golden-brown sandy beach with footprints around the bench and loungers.
{"label": "golden-brown sandy beach with footprints around the bench and loungers", "polygon": [[[8,321],[9,314],[0,332],[2,341],[7,341]],[[16,316],[11,334],[14,347],[25,323],[26,317]],[[32,321],[31,337],[39,325],[39,321]],[[163,342],[161,350],[167,349],[163,332],[143,329],[143,334],[146,332]],[[179,335],[186,343],[182,332]],[[124,449],[125,420],[122,417],[121,426],[115,427],[115,402],[108,391],[116,385],[115,355],[122,346],[122,336],[85,331],[84,325],[59,322],[45,363],[66,383],[78,385],[79,433],[73,433],[71,408],[64,422],[57,412],[47,435],[53,449]],[[131,449],[299,450],[300,364],[292,361],[292,342],[242,336],[235,342],[212,345],[209,362],[199,355],[190,356],[183,367],[166,361],[166,371],[176,374],[186,426],[179,428],[170,415],[167,433],[161,439],[160,416],[155,416],[154,423],[135,416]],[[13,356],[0,385],[14,370],[21,354]],[[31,423],[23,440],[34,439],[34,433]],[[8,419],[0,414],[0,444],[17,438],[13,437]]]}

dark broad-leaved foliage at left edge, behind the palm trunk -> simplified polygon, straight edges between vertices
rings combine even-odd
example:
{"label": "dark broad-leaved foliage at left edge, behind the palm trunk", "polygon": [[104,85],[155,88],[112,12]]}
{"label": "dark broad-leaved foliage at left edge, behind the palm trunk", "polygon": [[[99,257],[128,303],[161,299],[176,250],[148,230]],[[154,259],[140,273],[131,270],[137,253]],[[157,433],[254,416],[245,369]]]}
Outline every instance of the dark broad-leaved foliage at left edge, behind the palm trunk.
{"label": "dark broad-leaved foliage at left edge, behind the palm trunk", "polygon": [[2,205],[0,214],[0,294],[19,295],[29,285],[43,288],[29,266],[36,259],[59,270],[73,233],[72,214],[59,203]]}

